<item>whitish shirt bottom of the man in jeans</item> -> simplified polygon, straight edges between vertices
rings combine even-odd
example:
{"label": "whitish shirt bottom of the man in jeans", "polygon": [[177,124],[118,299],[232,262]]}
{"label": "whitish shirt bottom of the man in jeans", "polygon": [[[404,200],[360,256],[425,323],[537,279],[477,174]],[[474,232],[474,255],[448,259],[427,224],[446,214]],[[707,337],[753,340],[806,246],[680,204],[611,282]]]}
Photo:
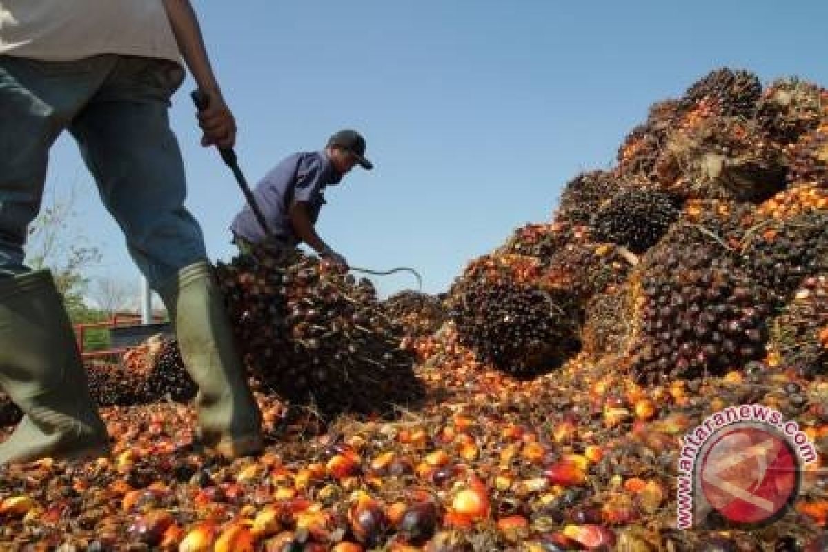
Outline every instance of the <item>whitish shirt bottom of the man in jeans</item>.
{"label": "whitish shirt bottom of the man in jeans", "polygon": [[161,0],[0,0],[0,55],[180,60]]}

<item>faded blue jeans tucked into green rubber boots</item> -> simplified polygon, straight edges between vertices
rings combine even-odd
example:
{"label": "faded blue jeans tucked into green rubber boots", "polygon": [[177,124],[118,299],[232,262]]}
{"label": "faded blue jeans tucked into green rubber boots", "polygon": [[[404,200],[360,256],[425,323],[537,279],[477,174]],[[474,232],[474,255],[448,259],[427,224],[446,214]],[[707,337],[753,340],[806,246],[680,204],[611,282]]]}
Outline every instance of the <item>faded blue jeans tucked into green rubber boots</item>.
{"label": "faded blue jeans tucked into green rubber boots", "polygon": [[183,79],[165,60],[0,56],[0,273],[29,270],[26,228],[41,207],[49,148],[64,129],[154,289],[207,257],[184,207],[184,166],[167,118]]}

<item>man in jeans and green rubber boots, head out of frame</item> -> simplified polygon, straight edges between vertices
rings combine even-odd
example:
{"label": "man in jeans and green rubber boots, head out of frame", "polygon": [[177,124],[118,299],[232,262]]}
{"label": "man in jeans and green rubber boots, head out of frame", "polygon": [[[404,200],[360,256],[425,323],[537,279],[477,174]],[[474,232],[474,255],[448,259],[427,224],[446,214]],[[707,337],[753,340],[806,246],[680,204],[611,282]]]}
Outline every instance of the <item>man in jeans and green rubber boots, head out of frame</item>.
{"label": "man in jeans and green rubber boots, head out of frame", "polygon": [[262,448],[204,238],[184,207],[167,118],[182,56],[209,98],[202,143],[233,146],[233,115],[188,0],[0,0],[0,386],[24,413],[0,444],[0,463],[108,450],[51,274],[23,264],[49,149],[64,130],[170,313],[199,386],[202,443],[227,456]]}

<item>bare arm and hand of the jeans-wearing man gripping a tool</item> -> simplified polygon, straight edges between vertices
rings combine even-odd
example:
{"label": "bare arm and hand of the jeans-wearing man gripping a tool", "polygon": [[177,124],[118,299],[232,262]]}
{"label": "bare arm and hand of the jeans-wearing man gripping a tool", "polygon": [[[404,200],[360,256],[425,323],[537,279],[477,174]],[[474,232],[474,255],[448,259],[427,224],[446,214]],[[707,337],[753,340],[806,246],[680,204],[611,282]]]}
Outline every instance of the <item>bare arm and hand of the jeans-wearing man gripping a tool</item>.
{"label": "bare arm and hand of the jeans-wearing man gripping a tool", "polygon": [[204,131],[201,143],[204,146],[233,147],[236,143],[236,121],[224,103],[219,82],[209,63],[195,10],[190,0],[164,0],[164,7],[181,56],[200,91],[208,98],[207,108],[198,115],[199,126]]}

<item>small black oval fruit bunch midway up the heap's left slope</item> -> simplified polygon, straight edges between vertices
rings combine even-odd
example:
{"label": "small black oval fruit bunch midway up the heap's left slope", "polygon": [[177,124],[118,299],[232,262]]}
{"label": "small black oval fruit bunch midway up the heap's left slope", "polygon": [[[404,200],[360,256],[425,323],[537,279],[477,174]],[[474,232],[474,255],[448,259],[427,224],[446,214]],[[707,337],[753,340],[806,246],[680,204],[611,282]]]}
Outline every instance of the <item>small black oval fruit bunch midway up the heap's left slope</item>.
{"label": "small black oval fruit bunch midway up the heap's left slope", "polygon": [[662,238],[678,213],[676,199],[668,194],[627,190],[599,209],[592,226],[599,241],[642,253]]}

